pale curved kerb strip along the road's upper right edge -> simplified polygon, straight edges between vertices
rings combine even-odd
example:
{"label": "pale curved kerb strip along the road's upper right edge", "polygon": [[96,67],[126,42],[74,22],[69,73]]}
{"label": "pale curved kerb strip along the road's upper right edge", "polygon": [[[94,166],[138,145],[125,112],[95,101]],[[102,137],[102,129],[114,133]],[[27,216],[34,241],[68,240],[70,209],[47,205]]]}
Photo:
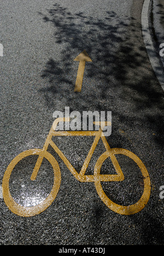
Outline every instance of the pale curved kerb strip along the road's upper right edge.
{"label": "pale curved kerb strip along the road's upper right edge", "polygon": [[148,52],[148,56],[151,62],[151,66],[154,69],[154,72],[156,74],[157,79],[159,80],[160,85],[162,86],[162,89],[164,91],[164,73],[163,69],[160,65],[159,59],[156,56],[156,52],[154,49],[154,45],[150,36],[149,32],[149,6],[150,6],[151,0],[145,0],[143,4],[142,9],[142,33],[143,33],[143,39],[145,43],[145,47]]}

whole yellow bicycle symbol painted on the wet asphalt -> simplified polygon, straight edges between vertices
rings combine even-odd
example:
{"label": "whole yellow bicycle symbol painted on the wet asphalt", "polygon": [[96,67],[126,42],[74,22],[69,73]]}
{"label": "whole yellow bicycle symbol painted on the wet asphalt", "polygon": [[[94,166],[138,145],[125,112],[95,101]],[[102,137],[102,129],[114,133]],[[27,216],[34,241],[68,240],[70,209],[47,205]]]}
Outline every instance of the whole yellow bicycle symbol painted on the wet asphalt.
{"label": "whole yellow bicycle symbol painted on the wet asphalt", "polygon": [[[95,122],[96,125],[99,125],[99,131],[55,131],[57,124],[60,121],[68,122],[69,118],[57,118],[49,132],[48,137],[46,138],[45,144],[43,149],[30,149],[27,150],[14,158],[7,170],[4,173],[3,177],[3,184],[2,184],[2,189],[3,189],[3,197],[6,205],[8,206],[9,210],[11,212],[19,215],[19,216],[24,216],[24,217],[30,217],[30,216],[35,216],[36,214],[42,213],[43,211],[48,208],[51,203],[55,200],[55,197],[58,193],[58,190],[60,188],[61,184],[61,172],[60,172],[60,167],[54,158],[47,150],[49,145],[55,150],[55,152],[60,156],[60,158],[65,162],[66,166],[68,167],[69,171],[72,172],[73,176],[80,182],[95,182],[95,187],[97,190],[97,193],[101,200],[106,204],[110,210],[119,213],[119,214],[124,214],[124,215],[130,215],[137,213],[141,211],[145,205],[147,205],[150,197],[150,177],[149,173],[144,166],[143,162],[138,158],[137,155],[133,154],[132,152],[122,149],[122,148],[110,148],[106,137],[104,137],[103,134],[103,129],[104,126],[111,125],[110,122],[101,122],[97,123]],[[61,152],[60,149],[56,146],[56,144],[52,141],[53,136],[95,136],[95,140],[91,146],[91,149],[84,161],[83,167],[81,168],[80,173],[78,173],[75,168],[71,165],[71,163],[68,161],[66,156]],[[93,175],[85,175],[87,166],[89,165],[89,162],[91,160],[91,157],[93,155],[93,152],[95,151],[95,148],[98,144],[99,139],[102,139],[103,144],[106,148],[106,152],[104,152],[97,160],[94,173]],[[116,160],[115,155],[116,154],[122,154],[128,156],[128,158],[131,158],[138,167],[140,168],[140,171],[142,172],[143,176],[143,181],[144,181],[144,191],[142,196],[140,197],[139,201],[134,203],[133,205],[130,206],[121,206],[113,201],[111,201],[108,196],[104,193],[104,190],[102,188],[101,182],[120,182],[124,181],[124,174],[122,173],[122,170],[120,168],[120,165],[118,163],[118,160]],[[52,190],[48,197],[39,205],[36,206],[30,206],[30,207],[24,207],[16,203],[13,199],[13,197],[10,194],[9,190],[9,179],[11,172],[14,170],[15,166],[21,161],[22,159],[26,158],[27,156],[31,155],[38,155],[38,160],[36,162],[36,165],[33,169],[32,175],[31,175],[31,180],[34,181],[37,177],[39,168],[43,162],[43,159],[47,159],[54,171],[54,184],[52,186]],[[110,158],[112,160],[112,164],[115,168],[115,171],[117,174],[101,174],[101,167],[103,162],[107,159]]]}

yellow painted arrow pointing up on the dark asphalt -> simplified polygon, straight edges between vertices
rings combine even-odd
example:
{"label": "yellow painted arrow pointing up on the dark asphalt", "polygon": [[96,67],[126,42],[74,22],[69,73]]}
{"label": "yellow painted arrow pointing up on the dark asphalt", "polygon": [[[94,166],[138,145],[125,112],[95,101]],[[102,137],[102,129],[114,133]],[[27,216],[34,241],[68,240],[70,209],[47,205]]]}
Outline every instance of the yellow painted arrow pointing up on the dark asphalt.
{"label": "yellow painted arrow pointing up on the dark asphalt", "polygon": [[84,76],[84,69],[85,69],[85,62],[89,61],[92,62],[90,56],[87,54],[86,50],[84,50],[82,53],[80,53],[74,61],[80,61],[79,68],[78,68],[78,74],[77,74],[77,80],[75,83],[74,91],[80,92],[81,86],[83,83],[83,76]]}

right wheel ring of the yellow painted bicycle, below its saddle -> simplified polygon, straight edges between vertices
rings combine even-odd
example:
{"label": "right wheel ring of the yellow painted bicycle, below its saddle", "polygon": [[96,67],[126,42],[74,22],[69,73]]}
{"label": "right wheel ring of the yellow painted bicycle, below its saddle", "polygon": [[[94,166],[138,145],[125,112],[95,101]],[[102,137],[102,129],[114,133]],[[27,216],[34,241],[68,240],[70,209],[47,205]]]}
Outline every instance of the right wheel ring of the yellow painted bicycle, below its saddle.
{"label": "right wheel ring of the yellow painted bicycle, below its saddle", "polygon": [[[142,179],[144,184],[143,194],[140,197],[140,199],[133,205],[122,206],[122,205],[119,205],[118,203],[113,202],[106,195],[101,184],[102,183],[101,167],[103,165],[103,162],[106,159],[108,158],[112,159],[113,156],[119,155],[119,154],[125,155],[128,158],[132,159],[137,164],[140,171],[142,172]],[[147,168],[144,166],[143,162],[138,158],[137,155],[133,154],[132,152],[122,148],[112,148],[109,151],[103,153],[96,162],[94,175],[95,175],[95,187],[96,187],[97,193],[101,198],[101,200],[106,204],[106,206],[110,208],[110,210],[122,215],[131,215],[143,210],[145,205],[147,205],[150,197],[150,190],[151,190],[149,173],[147,171]]]}

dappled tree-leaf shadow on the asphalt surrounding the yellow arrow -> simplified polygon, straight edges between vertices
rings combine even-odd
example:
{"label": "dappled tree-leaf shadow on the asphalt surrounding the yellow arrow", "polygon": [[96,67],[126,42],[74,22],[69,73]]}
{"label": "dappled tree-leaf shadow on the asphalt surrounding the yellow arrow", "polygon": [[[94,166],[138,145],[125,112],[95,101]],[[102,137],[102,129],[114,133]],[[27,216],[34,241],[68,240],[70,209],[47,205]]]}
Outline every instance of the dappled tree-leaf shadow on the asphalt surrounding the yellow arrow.
{"label": "dappled tree-leaf shadow on the asphalt surrounding the yellow arrow", "polygon": [[[103,19],[96,19],[81,12],[71,13],[60,4],[54,4],[47,15],[40,15],[54,26],[54,42],[61,45],[60,62],[55,57],[50,59],[42,75],[49,81],[41,89],[49,108],[112,110],[126,127],[140,124],[153,129],[154,139],[162,147],[163,91],[136,18],[122,20],[107,10]],[[83,88],[77,94],[74,85],[78,62],[73,60],[84,49],[92,62],[86,64]]]}

